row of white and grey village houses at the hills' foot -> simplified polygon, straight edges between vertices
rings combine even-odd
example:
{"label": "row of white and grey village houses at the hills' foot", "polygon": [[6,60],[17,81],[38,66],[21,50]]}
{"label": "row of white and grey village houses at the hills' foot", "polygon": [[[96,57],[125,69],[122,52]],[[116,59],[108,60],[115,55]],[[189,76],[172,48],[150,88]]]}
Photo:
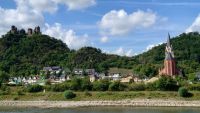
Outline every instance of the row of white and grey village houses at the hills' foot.
{"label": "row of white and grey village houses at the hills' foot", "polygon": [[49,81],[51,84],[62,83],[70,80],[73,76],[77,78],[89,77],[91,82],[96,80],[108,79],[110,81],[121,82],[141,82],[145,79],[140,79],[138,76],[134,76],[133,73],[128,70],[120,70],[118,68],[112,68],[107,73],[98,73],[95,69],[73,69],[61,68],[59,66],[44,67],[39,75],[30,77],[12,77],[9,80],[9,84],[40,84],[44,85],[45,81]]}

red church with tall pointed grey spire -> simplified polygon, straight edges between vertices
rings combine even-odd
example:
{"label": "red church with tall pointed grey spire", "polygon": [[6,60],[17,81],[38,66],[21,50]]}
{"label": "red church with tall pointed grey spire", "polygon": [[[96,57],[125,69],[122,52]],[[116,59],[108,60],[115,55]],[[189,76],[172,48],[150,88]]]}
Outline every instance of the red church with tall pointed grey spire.
{"label": "red church with tall pointed grey spire", "polygon": [[167,44],[165,48],[164,68],[159,69],[159,75],[175,76],[180,75],[181,71],[176,67],[174,52],[170,43],[170,35],[168,34]]}

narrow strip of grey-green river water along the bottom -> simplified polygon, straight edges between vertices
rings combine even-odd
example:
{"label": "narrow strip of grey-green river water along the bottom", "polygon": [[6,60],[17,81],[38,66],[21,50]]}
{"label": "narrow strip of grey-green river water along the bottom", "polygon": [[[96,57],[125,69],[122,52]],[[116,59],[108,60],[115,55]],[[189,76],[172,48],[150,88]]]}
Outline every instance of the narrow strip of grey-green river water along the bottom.
{"label": "narrow strip of grey-green river water along the bottom", "polygon": [[0,113],[200,113],[200,108],[182,107],[87,107],[87,108],[2,108]]}

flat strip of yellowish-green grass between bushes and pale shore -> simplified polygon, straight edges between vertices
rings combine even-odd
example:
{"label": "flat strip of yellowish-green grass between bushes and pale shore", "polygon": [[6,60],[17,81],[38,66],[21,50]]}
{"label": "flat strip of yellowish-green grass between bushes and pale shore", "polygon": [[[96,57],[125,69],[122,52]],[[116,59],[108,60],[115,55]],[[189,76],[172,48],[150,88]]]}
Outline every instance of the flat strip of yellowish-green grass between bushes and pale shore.
{"label": "flat strip of yellowish-green grass between bushes and pale shore", "polygon": [[[175,91],[118,91],[118,92],[75,92],[76,97],[69,100],[75,101],[89,101],[89,100],[123,100],[123,99],[175,99],[175,100],[200,100],[200,92],[193,91],[193,96],[189,98],[182,98],[178,96]],[[10,94],[0,95],[0,100],[50,100],[61,101],[67,100],[64,98],[63,92],[39,92],[28,93],[23,92],[18,94],[12,91]]]}

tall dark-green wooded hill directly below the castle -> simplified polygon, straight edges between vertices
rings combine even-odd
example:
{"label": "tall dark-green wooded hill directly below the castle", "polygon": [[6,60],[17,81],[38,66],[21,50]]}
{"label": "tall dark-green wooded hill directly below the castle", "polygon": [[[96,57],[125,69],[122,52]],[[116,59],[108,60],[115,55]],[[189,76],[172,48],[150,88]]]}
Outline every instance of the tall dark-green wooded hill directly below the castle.
{"label": "tall dark-green wooded hill directly below the castle", "polygon": [[0,70],[12,76],[36,74],[43,66],[64,65],[70,49],[47,35],[6,34],[0,39]]}

